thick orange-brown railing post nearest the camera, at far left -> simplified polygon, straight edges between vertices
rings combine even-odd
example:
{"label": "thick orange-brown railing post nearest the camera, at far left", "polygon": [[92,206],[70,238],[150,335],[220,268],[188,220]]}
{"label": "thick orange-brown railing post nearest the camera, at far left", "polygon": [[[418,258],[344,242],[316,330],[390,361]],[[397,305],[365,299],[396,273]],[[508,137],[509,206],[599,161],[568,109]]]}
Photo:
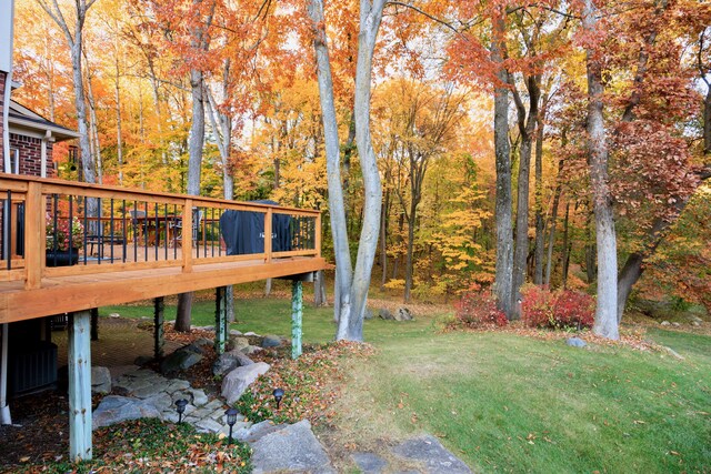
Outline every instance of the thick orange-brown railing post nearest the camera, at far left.
{"label": "thick orange-brown railing post nearest the camera, at far left", "polygon": [[42,283],[42,265],[44,264],[46,211],[42,209],[42,185],[40,183],[28,183],[24,206],[24,289],[34,290],[40,288]]}

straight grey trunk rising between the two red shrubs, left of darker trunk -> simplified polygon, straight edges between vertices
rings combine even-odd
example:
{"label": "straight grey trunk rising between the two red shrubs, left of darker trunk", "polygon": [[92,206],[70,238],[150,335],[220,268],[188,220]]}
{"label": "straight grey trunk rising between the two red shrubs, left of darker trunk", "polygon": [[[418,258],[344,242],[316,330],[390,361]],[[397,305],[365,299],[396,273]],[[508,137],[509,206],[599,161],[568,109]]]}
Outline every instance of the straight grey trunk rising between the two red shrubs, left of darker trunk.
{"label": "straight grey trunk rising between the two red shrubs, left of darker trunk", "polygon": [[511,317],[513,288],[513,231],[511,229],[511,154],[509,142],[509,89],[508,72],[503,65],[505,48],[504,12],[493,20],[495,39],[491,47],[491,59],[498,63],[498,83],[493,99],[493,141],[497,162],[497,264],[494,292],[499,309]]}

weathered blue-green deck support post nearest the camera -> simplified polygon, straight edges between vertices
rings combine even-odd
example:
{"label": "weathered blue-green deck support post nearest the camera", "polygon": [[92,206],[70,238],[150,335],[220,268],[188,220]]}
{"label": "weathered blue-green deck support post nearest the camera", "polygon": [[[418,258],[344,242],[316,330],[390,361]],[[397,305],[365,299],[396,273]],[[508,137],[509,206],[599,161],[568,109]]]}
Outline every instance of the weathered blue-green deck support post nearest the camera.
{"label": "weathered blue-green deck support post nearest the camera", "polygon": [[91,311],[69,314],[69,458],[91,460]]}

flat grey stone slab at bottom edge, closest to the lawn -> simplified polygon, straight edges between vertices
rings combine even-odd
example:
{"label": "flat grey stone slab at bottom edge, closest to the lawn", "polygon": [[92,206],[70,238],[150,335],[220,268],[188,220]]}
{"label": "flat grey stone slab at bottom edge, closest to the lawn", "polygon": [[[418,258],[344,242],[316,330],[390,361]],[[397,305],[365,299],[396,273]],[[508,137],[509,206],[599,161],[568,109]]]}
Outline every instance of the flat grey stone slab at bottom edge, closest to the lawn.
{"label": "flat grey stone slab at bottom edge, closest to the lawn", "polygon": [[469,466],[442,446],[434,436],[408,440],[393,447],[392,452],[404,460],[421,462],[428,474],[472,474]]}

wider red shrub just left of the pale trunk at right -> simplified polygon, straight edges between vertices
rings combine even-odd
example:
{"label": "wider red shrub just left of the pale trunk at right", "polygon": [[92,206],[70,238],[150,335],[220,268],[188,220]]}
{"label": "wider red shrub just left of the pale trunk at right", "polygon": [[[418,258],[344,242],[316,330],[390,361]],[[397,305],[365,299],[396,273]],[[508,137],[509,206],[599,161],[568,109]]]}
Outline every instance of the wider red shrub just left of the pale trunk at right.
{"label": "wider red shrub just left of the pale trunk at right", "polygon": [[570,290],[552,293],[539,286],[521,293],[521,319],[531,327],[592,327],[594,299],[589,294]]}

